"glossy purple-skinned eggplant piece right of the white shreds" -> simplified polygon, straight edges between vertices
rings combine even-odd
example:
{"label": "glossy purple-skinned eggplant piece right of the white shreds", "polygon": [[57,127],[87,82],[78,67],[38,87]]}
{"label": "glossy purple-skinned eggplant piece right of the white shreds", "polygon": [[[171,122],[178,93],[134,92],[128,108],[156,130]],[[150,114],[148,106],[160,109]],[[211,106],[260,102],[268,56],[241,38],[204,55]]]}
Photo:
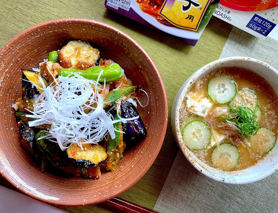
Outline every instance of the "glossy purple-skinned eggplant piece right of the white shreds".
{"label": "glossy purple-skinned eggplant piece right of the white shreds", "polygon": [[142,140],[147,134],[147,129],[136,107],[129,101],[121,101],[121,117],[133,118],[136,116],[139,116],[139,118],[122,122],[122,131],[125,132],[125,134],[123,134],[124,141],[127,145]]}

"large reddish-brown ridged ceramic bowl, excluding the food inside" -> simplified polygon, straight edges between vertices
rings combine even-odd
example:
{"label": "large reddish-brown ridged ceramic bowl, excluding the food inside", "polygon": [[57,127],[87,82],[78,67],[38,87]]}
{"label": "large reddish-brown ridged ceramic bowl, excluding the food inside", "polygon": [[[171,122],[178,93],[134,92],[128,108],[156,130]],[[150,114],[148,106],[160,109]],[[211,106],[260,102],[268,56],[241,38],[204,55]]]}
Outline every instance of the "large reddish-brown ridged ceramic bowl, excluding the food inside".
{"label": "large reddish-brown ridged ceramic bowl, excluding the food inside", "polygon": [[[138,111],[147,126],[144,140],[126,149],[115,172],[103,172],[100,179],[63,178],[45,172],[21,148],[21,136],[12,109],[21,97],[20,69],[31,69],[71,39],[93,42],[103,59],[112,59],[125,69],[134,85],[149,94],[149,105]],[[164,140],[168,106],[161,76],[146,51],[120,30],[87,19],[47,21],[15,36],[0,50],[0,173],[26,195],[45,203],[81,206],[100,203],[135,184],[153,164]],[[147,103],[143,92],[138,92]]]}

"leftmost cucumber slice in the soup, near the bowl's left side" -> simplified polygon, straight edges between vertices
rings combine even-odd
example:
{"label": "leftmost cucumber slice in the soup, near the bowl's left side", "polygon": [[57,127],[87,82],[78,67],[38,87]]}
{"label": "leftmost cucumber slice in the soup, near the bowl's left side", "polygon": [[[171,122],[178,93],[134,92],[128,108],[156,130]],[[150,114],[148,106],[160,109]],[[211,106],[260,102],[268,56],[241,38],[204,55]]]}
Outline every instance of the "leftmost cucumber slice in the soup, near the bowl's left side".
{"label": "leftmost cucumber slice in the soup, near the bowl's left side", "polygon": [[204,149],[211,142],[211,130],[204,121],[191,121],[183,130],[183,142],[189,149]]}

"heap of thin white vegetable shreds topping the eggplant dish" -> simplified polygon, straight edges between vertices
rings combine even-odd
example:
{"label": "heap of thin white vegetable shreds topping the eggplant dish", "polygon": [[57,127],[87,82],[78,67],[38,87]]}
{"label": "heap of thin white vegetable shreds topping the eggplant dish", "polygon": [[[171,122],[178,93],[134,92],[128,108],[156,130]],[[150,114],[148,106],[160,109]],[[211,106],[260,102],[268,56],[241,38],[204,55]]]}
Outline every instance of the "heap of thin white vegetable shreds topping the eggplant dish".
{"label": "heap of thin white vegetable shreds topping the eggplant dish", "polygon": [[138,118],[119,116],[120,119],[114,121],[113,116],[103,110],[103,98],[98,93],[103,88],[98,80],[88,80],[75,73],[72,77],[59,76],[58,82],[47,88],[42,84],[44,92],[34,104],[34,112],[28,110],[32,114],[26,117],[36,118],[28,122],[30,127],[51,125],[41,138],[57,142],[61,150],[67,149],[72,142],[83,149],[82,143],[97,144],[107,134],[114,139],[114,123]]}

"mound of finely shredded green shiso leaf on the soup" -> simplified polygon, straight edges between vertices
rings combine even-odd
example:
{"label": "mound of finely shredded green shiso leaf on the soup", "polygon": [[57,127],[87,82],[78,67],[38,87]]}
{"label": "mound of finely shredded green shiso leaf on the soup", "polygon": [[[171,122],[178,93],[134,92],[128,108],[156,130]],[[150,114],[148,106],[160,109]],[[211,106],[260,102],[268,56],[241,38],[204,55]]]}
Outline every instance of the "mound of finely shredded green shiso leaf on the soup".
{"label": "mound of finely shredded green shiso leaf on the soup", "polygon": [[218,115],[226,122],[235,125],[238,128],[239,136],[242,138],[249,138],[257,133],[259,130],[259,123],[256,121],[257,116],[255,112],[248,107],[242,106],[229,106],[231,109],[230,114],[233,113],[232,118],[226,118]]}

